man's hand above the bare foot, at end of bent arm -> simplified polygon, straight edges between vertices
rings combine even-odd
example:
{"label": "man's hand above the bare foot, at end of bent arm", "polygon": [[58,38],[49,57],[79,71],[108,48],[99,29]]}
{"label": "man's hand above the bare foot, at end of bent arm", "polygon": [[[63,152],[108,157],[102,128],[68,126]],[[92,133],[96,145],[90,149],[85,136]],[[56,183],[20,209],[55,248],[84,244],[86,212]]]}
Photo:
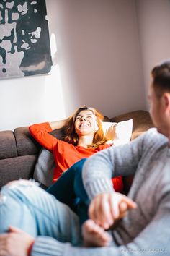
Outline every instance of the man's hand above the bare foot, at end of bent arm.
{"label": "man's hand above the bare foot, at end of bent arm", "polygon": [[94,197],[89,205],[89,218],[99,226],[109,229],[116,220],[124,217],[136,203],[118,192],[102,193]]}

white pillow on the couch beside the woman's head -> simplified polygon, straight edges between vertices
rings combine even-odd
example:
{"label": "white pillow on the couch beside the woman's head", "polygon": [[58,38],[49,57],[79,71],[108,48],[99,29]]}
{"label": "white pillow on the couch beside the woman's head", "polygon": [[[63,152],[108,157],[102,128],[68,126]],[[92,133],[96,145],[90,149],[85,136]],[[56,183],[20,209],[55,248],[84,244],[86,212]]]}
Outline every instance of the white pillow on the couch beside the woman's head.
{"label": "white pillow on the couch beside the woman's head", "polygon": [[113,142],[114,145],[122,145],[128,143],[133,132],[133,119],[127,121],[114,122],[102,122],[104,135],[108,137],[108,142]]}

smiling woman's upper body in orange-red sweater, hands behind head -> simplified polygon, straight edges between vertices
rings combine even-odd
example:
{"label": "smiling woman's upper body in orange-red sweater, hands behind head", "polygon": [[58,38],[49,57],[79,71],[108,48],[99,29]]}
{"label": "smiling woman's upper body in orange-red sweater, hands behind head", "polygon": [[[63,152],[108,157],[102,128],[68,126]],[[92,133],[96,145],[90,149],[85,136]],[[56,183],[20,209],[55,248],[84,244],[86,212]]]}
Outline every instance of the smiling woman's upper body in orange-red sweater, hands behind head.
{"label": "smiling woman's upper body in orange-red sweater, hands behind head", "polygon": [[[35,140],[53,153],[56,166],[53,182],[56,182],[73,163],[110,147],[105,143],[107,138],[102,129],[103,119],[104,116],[97,109],[83,106],[66,120],[33,124],[29,127]],[[49,134],[54,129],[61,128],[62,140]],[[113,184],[115,190],[122,192],[121,177],[113,179]]]}

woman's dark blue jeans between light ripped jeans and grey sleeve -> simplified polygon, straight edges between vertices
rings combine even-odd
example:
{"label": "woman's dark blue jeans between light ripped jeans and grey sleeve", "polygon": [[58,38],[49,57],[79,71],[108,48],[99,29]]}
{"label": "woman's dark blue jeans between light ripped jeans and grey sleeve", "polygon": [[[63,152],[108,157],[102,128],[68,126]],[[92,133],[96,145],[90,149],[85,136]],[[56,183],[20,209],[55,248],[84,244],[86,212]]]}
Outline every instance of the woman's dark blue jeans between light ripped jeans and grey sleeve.
{"label": "woman's dark blue jeans between light ripped jeans and grey sleeve", "polygon": [[57,182],[51,185],[47,192],[54,195],[57,200],[68,205],[78,214],[81,223],[88,218],[89,197],[82,182],[82,169],[86,158],[74,163],[73,166],[61,175]]}

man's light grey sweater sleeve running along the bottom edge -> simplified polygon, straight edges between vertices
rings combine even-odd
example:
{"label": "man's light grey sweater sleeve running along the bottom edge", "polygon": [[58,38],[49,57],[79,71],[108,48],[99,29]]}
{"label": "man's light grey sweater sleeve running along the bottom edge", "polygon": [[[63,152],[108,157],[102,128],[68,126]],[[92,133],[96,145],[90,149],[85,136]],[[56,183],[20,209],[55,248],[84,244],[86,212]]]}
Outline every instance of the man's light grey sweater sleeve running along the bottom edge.
{"label": "man's light grey sweater sleeve running along the bottom edge", "polygon": [[69,243],[38,236],[32,247],[32,256],[151,256],[170,255],[170,193],[164,195],[151,223],[129,244],[110,247],[84,248],[73,247]]}

